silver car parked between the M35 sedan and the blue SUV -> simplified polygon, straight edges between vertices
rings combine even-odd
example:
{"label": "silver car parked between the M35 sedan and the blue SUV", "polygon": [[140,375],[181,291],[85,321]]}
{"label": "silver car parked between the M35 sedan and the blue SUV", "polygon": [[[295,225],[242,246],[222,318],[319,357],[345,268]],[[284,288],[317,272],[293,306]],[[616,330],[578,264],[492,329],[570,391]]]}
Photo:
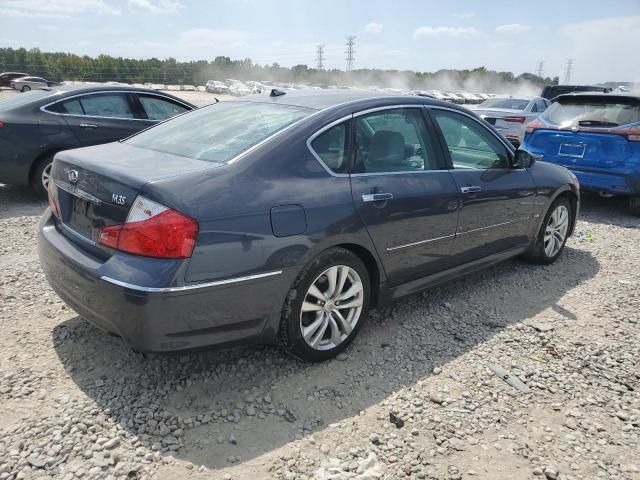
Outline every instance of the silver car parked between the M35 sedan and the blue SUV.
{"label": "silver car parked between the M35 sedan and the blue SUV", "polygon": [[542,97],[493,97],[472,110],[517,148],[524,139],[526,125],[538,118],[549,105],[551,102]]}

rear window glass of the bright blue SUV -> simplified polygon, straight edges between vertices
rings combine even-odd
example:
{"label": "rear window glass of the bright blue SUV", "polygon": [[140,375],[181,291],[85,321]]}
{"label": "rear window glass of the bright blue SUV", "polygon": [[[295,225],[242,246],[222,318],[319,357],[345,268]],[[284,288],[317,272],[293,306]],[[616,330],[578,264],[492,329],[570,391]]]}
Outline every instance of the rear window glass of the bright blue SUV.
{"label": "rear window glass of the bright blue SUV", "polygon": [[640,122],[640,103],[632,99],[566,98],[552,104],[543,117],[561,127],[617,127]]}

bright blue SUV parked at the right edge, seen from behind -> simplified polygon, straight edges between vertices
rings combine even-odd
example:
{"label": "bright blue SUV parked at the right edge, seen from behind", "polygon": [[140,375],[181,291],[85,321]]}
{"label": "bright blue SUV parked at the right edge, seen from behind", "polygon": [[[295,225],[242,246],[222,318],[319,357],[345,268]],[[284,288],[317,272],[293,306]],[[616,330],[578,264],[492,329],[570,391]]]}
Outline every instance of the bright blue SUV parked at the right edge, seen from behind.
{"label": "bright blue SUV parked at the right edge, seen from behind", "polygon": [[640,97],[561,95],[526,132],[523,149],[570,169],[583,190],[628,197],[640,216]]}

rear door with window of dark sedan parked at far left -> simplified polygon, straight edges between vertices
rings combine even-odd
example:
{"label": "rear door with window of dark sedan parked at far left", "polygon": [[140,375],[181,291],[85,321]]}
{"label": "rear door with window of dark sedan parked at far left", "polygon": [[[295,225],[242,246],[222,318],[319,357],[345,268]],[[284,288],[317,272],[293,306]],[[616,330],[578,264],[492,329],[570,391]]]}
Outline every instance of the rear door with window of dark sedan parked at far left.
{"label": "rear door with window of dark sedan parked at far left", "polygon": [[55,108],[82,146],[115,142],[155,123],[143,118],[127,92],[88,93]]}

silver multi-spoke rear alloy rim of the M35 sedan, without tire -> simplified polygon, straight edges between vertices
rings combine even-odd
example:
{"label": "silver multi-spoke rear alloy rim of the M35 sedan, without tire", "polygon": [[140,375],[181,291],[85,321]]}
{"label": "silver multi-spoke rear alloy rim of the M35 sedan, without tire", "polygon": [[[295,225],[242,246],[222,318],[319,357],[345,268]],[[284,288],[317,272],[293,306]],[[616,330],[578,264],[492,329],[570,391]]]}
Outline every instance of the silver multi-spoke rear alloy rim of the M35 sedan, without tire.
{"label": "silver multi-spoke rear alloy rim of the M35 sedan, without tire", "polygon": [[322,272],[307,290],[300,311],[304,341],[315,350],[331,350],[344,342],[362,314],[364,286],[346,265]]}

